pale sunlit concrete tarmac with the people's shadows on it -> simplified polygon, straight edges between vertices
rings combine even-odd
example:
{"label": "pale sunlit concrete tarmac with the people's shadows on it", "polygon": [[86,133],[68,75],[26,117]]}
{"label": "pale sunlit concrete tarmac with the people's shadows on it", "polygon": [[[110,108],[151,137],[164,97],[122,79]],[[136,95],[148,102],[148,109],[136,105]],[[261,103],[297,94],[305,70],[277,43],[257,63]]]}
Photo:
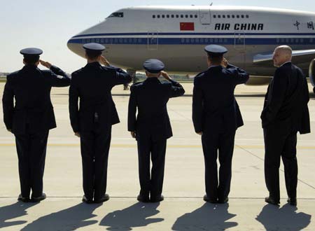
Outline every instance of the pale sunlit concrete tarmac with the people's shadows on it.
{"label": "pale sunlit concrete tarmac with the people's shadows on it", "polygon": [[[0,83],[0,94],[4,83]],[[68,87],[53,88],[57,128],[50,130],[40,203],[17,202],[18,157],[13,134],[0,125],[0,230],[315,230],[315,133],[298,135],[297,207],[286,203],[283,165],[281,204],[266,204],[264,143],[260,112],[267,86],[240,85],[235,92],[244,127],[237,130],[228,204],[209,204],[204,196],[204,160],[200,136],[191,120],[193,84],[186,95],[169,100],[174,137],[167,141],[165,182],[160,203],[137,202],[137,145],[127,132],[129,91],[113,88],[120,122],[113,126],[107,193],[104,204],[83,204],[79,139],[69,123]],[[309,85],[311,91],[311,85]],[[311,128],[315,98],[310,93]],[[1,104],[1,103],[0,103]],[[3,120],[3,114],[0,114]]]}

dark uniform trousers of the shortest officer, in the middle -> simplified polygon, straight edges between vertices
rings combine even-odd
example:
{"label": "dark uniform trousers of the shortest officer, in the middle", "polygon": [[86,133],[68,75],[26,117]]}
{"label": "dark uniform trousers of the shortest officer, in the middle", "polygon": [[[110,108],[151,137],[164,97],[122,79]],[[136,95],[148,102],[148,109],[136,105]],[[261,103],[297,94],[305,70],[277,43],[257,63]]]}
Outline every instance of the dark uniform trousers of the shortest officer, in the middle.
{"label": "dark uniform trousers of the shortest officer, in the middle", "polygon": [[[153,141],[151,137],[143,137],[137,141],[139,159],[139,180],[140,195],[151,198],[159,197],[162,194],[165,152],[167,139]],[[150,158],[152,169],[150,174]]]}

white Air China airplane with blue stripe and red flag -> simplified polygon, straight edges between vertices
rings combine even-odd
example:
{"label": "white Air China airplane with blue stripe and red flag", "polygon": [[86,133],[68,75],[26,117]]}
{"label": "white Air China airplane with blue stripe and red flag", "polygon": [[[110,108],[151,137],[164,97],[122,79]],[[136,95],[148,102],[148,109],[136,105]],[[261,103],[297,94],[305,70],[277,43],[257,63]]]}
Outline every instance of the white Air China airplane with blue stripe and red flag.
{"label": "white Air China airplane with blue stripe and red flag", "polygon": [[82,45],[92,42],[105,45],[103,55],[132,74],[143,70],[143,62],[150,58],[161,59],[169,73],[199,73],[207,69],[204,46],[224,45],[229,62],[250,73],[249,84],[269,83],[275,69],[274,48],[290,45],[293,64],[315,86],[315,13],[310,12],[248,6],[136,6],[111,13],[70,38],[67,45],[85,57]]}

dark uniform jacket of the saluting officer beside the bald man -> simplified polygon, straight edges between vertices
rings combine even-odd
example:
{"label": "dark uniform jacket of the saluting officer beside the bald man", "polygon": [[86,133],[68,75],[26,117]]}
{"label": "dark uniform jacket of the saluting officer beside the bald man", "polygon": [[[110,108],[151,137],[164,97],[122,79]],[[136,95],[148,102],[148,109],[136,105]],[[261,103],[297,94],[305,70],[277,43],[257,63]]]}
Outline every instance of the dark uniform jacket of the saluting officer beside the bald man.
{"label": "dark uniform jacket of the saluting officer beside the bald man", "polygon": [[246,83],[246,71],[229,65],[211,66],[198,74],[193,89],[195,132],[229,132],[242,126],[241,112],[234,96],[235,86]]}

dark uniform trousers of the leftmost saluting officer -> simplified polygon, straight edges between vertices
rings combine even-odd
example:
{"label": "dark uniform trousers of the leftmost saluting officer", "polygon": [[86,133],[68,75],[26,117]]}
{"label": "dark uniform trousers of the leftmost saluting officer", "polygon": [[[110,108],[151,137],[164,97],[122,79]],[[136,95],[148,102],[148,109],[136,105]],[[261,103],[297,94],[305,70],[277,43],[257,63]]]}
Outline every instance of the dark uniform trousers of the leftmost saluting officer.
{"label": "dark uniform trousers of the leftmost saluting officer", "polygon": [[15,134],[18,152],[20,188],[22,197],[40,197],[43,194],[43,173],[49,130]]}

